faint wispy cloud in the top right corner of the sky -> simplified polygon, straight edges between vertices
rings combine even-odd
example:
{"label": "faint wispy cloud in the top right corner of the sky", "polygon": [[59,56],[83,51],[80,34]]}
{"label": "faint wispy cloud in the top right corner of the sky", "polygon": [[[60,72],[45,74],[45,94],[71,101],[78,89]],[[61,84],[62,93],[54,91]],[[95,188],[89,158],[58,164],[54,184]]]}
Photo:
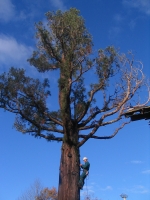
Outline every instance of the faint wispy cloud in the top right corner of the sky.
{"label": "faint wispy cloud in the top right corner of the sky", "polygon": [[123,0],[125,5],[137,8],[146,15],[150,15],[150,0]]}

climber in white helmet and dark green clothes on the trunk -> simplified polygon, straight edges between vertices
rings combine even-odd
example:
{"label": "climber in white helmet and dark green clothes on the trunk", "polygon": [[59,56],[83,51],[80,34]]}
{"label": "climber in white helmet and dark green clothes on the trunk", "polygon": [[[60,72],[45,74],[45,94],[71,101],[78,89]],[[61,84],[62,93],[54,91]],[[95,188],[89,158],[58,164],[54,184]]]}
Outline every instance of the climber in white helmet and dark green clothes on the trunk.
{"label": "climber in white helmet and dark green clothes on the trunk", "polygon": [[89,168],[90,168],[90,163],[88,162],[87,157],[83,158],[83,161],[85,164],[80,164],[80,167],[83,169],[83,172],[80,176],[80,180],[79,180],[79,188],[82,190],[83,186],[84,186],[84,180],[87,177],[87,175],[89,174]]}

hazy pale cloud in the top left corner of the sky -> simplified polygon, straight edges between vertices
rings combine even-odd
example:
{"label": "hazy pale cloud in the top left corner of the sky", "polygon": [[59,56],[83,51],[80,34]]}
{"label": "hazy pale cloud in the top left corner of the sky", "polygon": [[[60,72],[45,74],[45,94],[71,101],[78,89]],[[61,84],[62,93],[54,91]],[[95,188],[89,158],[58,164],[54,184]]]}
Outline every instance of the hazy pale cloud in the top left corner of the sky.
{"label": "hazy pale cloud in the top left corner of the sky", "polygon": [[0,21],[8,22],[15,16],[15,6],[11,0],[0,0]]}

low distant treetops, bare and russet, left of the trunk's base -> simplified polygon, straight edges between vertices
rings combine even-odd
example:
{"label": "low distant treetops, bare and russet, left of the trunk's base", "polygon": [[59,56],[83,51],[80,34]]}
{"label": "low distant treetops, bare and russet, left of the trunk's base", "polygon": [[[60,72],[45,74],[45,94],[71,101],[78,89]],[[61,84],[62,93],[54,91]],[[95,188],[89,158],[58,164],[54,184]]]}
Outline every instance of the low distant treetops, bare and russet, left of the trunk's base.
{"label": "low distant treetops, bare and russet, left of the trunk's base", "polygon": [[36,180],[18,200],[57,200],[57,196],[56,188],[43,188],[40,181]]}

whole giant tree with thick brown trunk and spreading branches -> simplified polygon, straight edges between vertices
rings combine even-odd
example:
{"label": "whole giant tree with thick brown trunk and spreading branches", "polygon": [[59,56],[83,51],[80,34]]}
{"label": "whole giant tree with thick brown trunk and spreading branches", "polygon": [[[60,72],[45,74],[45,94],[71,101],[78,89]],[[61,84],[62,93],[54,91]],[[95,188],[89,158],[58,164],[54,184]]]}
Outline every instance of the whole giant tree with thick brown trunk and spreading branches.
{"label": "whole giant tree with thick brown trunk and spreading branches", "polygon": [[[46,17],[47,25],[36,24],[37,50],[28,61],[41,73],[58,70],[58,110],[47,104],[49,80],[40,82],[16,68],[0,76],[0,107],[16,114],[18,131],[62,142],[58,199],[79,200],[80,147],[91,138],[113,138],[129,123],[123,113],[131,101],[134,108],[146,105],[150,92],[139,101],[146,80],[132,53],[121,54],[113,46],[93,53],[92,36],[78,10]],[[96,135],[100,127],[119,121],[113,133]]]}

